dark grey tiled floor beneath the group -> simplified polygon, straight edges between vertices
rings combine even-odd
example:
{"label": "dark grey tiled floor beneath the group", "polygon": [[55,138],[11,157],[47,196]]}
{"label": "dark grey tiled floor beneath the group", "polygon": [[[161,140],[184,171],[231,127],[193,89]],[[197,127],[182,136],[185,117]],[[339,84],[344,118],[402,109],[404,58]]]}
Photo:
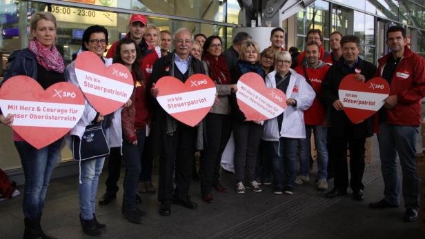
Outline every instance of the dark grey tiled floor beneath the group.
{"label": "dark grey tiled floor beneath the group", "polygon": [[[374,140],[376,147],[376,141]],[[375,150],[374,150],[375,151]],[[310,176],[315,177],[315,174]],[[121,177],[122,178],[122,177]],[[425,238],[418,222],[402,221],[404,208],[372,210],[369,202],[382,197],[382,177],[376,153],[366,166],[366,199],[327,199],[314,182],[299,186],[293,196],[275,196],[271,186],[261,193],[233,193],[233,174],[221,180],[228,193],[214,192],[215,203],[200,200],[199,183],[192,184],[197,210],[172,205],[172,215],[159,216],[156,194],[141,194],[141,209],[148,212],[142,225],[123,218],[122,191],[110,205],[97,207],[97,218],[106,223],[103,238]],[[155,178],[157,179],[157,178]],[[101,176],[98,196],[105,190],[106,174]],[[43,210],[43,229],[58,238],[88,238],[79,225],[78,176],[52,180]],[[122,183],[121,181],[119,182]],[[0,238],[21,238],[23,233],[22,196],[0,202]]]}

